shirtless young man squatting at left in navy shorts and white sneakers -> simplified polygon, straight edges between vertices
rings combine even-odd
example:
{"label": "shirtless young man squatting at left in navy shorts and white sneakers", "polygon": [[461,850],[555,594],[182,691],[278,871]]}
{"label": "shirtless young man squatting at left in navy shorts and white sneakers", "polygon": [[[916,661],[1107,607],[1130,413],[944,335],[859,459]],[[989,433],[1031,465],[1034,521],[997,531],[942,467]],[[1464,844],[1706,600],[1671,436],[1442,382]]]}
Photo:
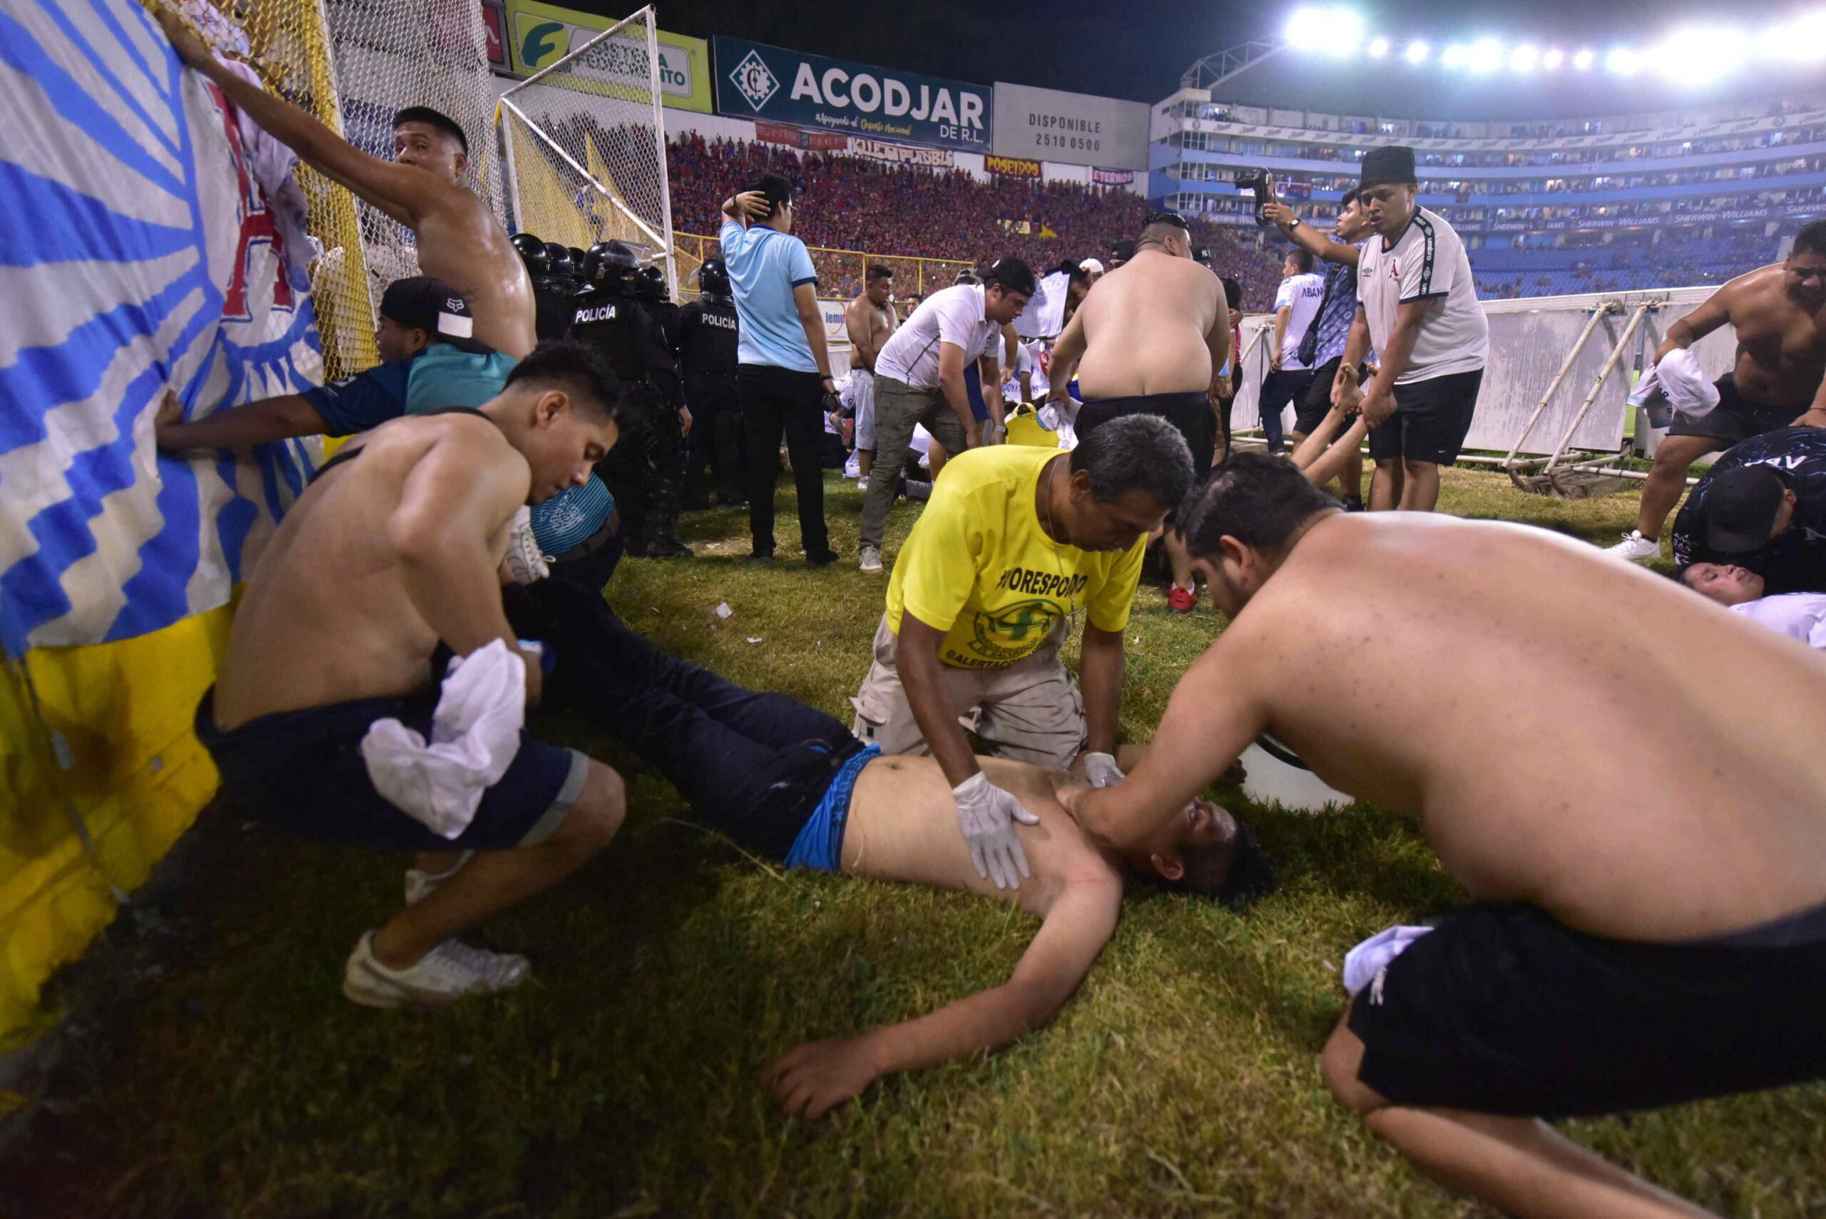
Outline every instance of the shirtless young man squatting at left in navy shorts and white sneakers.
{"label": "shirtless young man squatting at left in navy shorts and white sneakers", "polygon": [[[539,701],[540,662],[508,624],[497,573],[520,505],[582,485],[615,443],[619,396],[584,349],[548,343],[480,411],[382,423],[325,462],[248,578],[195,719],[223,794],[310,838],[422,852],[420,900],[349,956],[343,993],[358,1004],[438,1005],[522,982],[526,958],[451,936],[557,883],[621,825],[614,770],[526,732],[455,838],[383,797],[362,750],[387,717],[431,735],[440,644],[467,657],[502,641],[511,664],[530,657],[526,704]],[[480,854],[431,876],[431,852],[460,850]]]}

